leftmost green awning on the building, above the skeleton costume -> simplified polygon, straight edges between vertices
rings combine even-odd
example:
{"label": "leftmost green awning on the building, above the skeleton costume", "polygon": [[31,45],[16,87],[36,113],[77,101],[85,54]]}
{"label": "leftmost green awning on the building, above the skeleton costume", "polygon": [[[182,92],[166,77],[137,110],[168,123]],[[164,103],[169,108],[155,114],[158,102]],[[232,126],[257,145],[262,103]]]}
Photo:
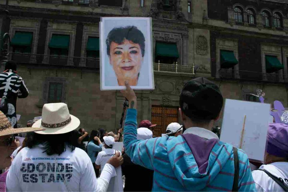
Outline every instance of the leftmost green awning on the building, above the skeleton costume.
{"label": "leftmost green awning on the building, above the skeleton costume", "polygon": [[30,46],[32,44],[32,32],[19,32],[16,31],[11,40],[12,46]]}

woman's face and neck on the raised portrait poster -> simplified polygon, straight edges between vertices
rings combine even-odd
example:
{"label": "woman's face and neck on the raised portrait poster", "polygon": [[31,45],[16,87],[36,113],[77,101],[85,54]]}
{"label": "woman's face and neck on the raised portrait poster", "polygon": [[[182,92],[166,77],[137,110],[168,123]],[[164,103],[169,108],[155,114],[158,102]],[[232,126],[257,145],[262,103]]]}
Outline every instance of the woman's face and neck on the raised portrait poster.
{"label": "woman's face and neck on the raised portrait poster", "polygon": [[[138,74],[143,62],[142,51],[139,44],[125,39],[122,44],[114,41],[110,44],[110,64],[116,73],[119,85],[129,81],[130,85],[136,85]],[[135,84],[136,83],[136,84]]]}

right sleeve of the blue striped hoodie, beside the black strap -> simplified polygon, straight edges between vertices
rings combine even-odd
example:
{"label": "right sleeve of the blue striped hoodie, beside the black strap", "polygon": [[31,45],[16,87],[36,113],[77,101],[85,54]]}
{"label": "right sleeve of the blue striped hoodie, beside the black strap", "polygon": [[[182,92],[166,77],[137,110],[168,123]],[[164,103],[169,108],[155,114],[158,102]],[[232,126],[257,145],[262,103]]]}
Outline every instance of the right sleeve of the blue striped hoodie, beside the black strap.
{"label": "right sleeve of the blue striped hoodie, beside the black strap", "polygon": [[248,156],[238,149],[239,156],[239,190],[238,191],[257,191],[255,182],[250,169]]}

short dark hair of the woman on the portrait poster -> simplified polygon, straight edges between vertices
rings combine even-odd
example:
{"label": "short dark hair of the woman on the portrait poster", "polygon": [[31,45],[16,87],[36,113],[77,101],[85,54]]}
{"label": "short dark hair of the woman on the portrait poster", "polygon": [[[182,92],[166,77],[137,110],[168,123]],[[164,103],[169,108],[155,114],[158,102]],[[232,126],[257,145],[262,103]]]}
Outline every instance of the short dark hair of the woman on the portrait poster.
{"label": "short dark hair of the woman on the portrait poster", "polygon": [[118,27],[112,29],[106,39],[107,55],[110,56],[110,45],[112,42],[122,44],[125,39],[132,41],[134,44],[139,44],[142,52],[142,57],[145,54],[145,38],[143,33],[135,26]]}

